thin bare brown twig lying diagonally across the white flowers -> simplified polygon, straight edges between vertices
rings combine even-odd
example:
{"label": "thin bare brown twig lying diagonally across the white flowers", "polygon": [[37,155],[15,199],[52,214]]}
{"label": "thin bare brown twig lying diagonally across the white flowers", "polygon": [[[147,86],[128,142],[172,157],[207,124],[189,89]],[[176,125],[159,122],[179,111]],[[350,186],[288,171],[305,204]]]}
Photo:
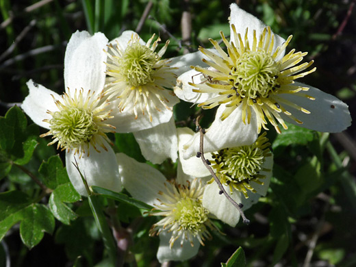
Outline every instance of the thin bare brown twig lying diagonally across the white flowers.
{"label": "thin bare brown twig lying diagonally across the white flowers", "polygon": [[227,194],[227,192],[225,191],[225,188],[220,183],[220,179],[218,179],[218,177],[214,173],[214,170],[209,166],[209,164],[207,164],[207,160],[205,160],[204,150],[203,150],[205,130],[203,128],[201,128],[201,126],[199,125],[199,121],[198,120],[199,120],[199,117],[196,118],[195,125],[196,125],[196,129],[198,129],[199,133],[200,133],[200,146],[199,146],[199,153],[196,156],[201,158],[201,161],[203,162],[204,166],[207,168],[207,170],[209,170],[209,173],[211,173],[211,175],[214,177],[214,180],[216,181],[216,183],[218,183],[218,187],[220,188],[219,194],[224,194],[225,195],[225,197],[231,202],[231,204],[234,205],[236,207],[236,209],[238,209],[238,212],[240,212],[240,215],[242,217],[242,222],[245,225],[249,225],[250,220],[248,218],[246,218],[246,216],[244,216],[244,212],[242,212],[242,209],[241,209],[242,208],[242,204],[236,203],[236,201],[234,201],[231,198],[231,196],[229,196],[229,194]]}

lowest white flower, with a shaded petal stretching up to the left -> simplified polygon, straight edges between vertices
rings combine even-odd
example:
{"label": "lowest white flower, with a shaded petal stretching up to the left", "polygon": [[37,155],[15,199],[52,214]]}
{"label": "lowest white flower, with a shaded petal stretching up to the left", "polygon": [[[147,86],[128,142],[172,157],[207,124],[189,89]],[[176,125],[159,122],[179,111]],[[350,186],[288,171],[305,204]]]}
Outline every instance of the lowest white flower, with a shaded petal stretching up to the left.
{"label": "lowest white flower, with a shaded petal stretching up to the left", "polygon": [[160,237],[157,259],[162,262],[186,260],[198,253],[199,245],[210,239],[216,227],[203,207],[205,186],[179,171],[176,181],[167,181],[160,171],[136,162],[123,153],[116,154],[123,186],[136,199],[153,205],[162,220],[151,228],[151,236]]}

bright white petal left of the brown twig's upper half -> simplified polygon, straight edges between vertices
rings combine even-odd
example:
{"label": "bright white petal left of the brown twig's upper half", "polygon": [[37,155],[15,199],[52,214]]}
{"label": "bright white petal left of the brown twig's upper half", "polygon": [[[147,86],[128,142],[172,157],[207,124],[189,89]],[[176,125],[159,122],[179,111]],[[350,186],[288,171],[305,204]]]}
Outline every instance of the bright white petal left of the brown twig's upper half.
{"label": "bright white petal left of the brown twig's upper half", "polygon": [[[188,127],[178,128],[178,148],[179,148],[179,161],[181,162],[181,167],[183,169],[183,173],[186,175],[190,175],[192,177],[205,177],[209,176],[209,170],[204,166],[203,162],[201,162],[200,157],[189,157],[187,160],[183,157],[183,145],[192,139],[194,136],[194,131]],[[205,153],[205,158],[207,160],[212,160],[211,153]],[[211,176],[211,175],[210,175]]]}

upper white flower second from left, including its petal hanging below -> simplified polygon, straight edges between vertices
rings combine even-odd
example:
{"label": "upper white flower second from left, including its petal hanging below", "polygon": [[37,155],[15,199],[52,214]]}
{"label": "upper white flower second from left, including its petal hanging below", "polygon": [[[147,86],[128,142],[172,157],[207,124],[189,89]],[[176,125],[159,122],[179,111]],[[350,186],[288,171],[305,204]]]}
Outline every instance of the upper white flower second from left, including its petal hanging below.
{"label": "upper white flower second from left, including its petal hanging below", "polygon": [[[105,95],[117,106],[114,116],[132,114],[134,119],[128,123],[136,127],[131,131],[142,155],[160,164],[167,157],[177,160],[173,106],[179,99],[171,88],[177,75],[199,62],[201,55],[191,53],[163,60],[169,41],[156,52],[160,38],[154,38],[145,43],[136,32],[124,31],[107,45]],[[166,142],[173,142],[175,148],[169,150],[164,146]]]}

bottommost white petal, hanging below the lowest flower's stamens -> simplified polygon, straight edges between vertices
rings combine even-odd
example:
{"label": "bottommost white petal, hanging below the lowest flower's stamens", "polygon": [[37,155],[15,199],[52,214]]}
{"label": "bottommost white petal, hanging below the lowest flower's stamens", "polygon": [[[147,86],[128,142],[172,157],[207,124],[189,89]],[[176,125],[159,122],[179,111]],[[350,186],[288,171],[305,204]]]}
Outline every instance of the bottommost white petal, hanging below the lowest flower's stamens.
{"label": "bottommost white petal, hanging below the lowest flower's stamens", "polygon": [[167,233],[166,231],[162,231],[159,235],[160,246],[157,251],[157,259],[160,264],[170,261],[184,261],[194,257],[198,253],[200,243],[196,238],[193,239],[194,246],[192,246],[187,240],[184,240],[183,246],[181,246],[181,238],[178,238],[175,241],[175,244],[173,244],[172,249],[170,249],[170,236],[172,236],[172,234]]}

